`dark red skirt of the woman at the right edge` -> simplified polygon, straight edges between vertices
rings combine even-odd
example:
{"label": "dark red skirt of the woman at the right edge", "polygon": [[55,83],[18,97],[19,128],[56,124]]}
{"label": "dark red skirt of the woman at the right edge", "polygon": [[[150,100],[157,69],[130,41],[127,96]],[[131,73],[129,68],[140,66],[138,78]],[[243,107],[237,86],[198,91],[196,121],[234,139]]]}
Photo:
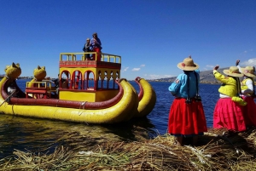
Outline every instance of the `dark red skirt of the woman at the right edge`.
{"label": "dark red skirt of the woman at the right edge", "polygon": [[242,111],[245,124],[247,126],[256,126],[256,105],[253,97],[246,96],[244,100],[247,102],[247,105],[243,107]]}

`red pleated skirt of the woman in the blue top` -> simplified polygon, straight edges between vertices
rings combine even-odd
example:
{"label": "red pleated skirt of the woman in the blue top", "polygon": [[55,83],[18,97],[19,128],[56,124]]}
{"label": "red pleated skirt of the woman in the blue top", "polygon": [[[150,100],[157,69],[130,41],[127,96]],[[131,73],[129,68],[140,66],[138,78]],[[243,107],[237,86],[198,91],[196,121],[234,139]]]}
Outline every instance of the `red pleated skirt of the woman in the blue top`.
{"label": "red pleated skirt of the woman in the blue top", "polygon": [[207,121],[201,102],[192,100],[186,104],[185,99],[175,99],[172,102],[168,132],[174,136],[194,136],[207,132]]}

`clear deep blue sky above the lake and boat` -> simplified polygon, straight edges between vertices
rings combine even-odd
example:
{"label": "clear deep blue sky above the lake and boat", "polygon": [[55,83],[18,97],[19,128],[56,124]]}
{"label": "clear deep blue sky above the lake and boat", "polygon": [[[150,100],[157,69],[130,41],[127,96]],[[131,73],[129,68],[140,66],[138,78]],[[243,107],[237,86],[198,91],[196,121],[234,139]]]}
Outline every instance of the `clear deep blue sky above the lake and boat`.
{"label": "clear deep blue sky above the lake and boat", "polygon": [[255,0],[1,0],[0,74],[15,62],[21,76],[45,66],[56,77],[59,54],[82,52],[93,32],[129,80],[177,76],[189,55],[201,71],[255,66],[255,9]]}

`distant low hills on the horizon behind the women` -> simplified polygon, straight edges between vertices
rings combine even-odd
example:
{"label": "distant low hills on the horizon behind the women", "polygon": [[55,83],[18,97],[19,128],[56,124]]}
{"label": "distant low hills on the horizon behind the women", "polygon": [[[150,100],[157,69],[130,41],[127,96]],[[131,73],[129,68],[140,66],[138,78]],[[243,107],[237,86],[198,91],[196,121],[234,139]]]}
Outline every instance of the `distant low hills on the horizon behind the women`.
{"label": "distant low hills on the horizon behind the women", "polygon": [[[227,70],[229,68],[219,68],[218,71],[220,73],[223,73],[224,70]],[[182,73],[182,72],[181,72]],[[173,82],[176,79],[176,77],[166,77],[166,78],[160,78],[160,79],[154,79],[149,81],[155,81],[155,82]],[[200,71],[200,82],[201,83],[219,83],[215,77],[212,74],[212,70],[208,71]]]}

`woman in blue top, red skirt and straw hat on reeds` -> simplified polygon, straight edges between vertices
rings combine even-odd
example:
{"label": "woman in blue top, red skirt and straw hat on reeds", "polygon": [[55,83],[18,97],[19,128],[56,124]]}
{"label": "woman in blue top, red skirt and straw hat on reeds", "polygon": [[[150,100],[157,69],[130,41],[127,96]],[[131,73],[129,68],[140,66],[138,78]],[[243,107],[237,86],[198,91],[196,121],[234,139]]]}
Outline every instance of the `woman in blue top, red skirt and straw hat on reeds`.
{"label": "woman in blue top, red skirt and straw hat on reeds", "polygon": [[193,137],[193,144],[196,145],[198,135],[207,132],[205,112],[198,94],[199,66],[189,56],[177,67],[183,73],[169,87],[175,99],[170,108],[168,133],[176,137],[176,145],[183,145],[183,137]]}

